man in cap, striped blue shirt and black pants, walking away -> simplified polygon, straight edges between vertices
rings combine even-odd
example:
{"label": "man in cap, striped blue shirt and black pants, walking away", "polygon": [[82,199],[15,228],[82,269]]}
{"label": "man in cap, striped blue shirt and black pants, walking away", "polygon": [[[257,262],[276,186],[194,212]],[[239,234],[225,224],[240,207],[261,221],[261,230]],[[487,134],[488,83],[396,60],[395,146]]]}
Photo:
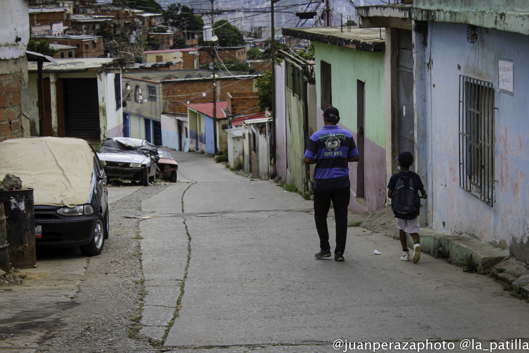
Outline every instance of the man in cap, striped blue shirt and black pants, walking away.
{"label": "man in cap, striped blue shirt and black pants, walking away", "polygon": [[350,186],[348,162],[358,162],[358,149],[352,135],[337,125],[340,113],[334,107],[323,112],[322,130],[316,131],[308,140],[305,151],[305,164],[316,164],[314,169],[314,220],[320,236],[320,252],[316,258],[330,257],[327,213],[331,201],[336,221],[336,248],[334,260],[343,261],[347,238],[347,207],[349,206]]}

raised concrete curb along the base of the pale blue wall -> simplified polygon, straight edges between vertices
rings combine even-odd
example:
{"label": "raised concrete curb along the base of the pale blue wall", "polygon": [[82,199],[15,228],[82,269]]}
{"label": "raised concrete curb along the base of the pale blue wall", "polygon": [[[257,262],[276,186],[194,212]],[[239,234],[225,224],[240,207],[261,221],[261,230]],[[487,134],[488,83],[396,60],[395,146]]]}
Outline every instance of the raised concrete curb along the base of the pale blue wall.
{"label": "raised concrete curb along the base of the pale blue wall", "polygon": [[[421,252],[435,258],[446,258],[449,263],[459,266],[460,259],[468,259],[472,255],[472,262],[478,273],[486,273],[493,266],[506,260],[510,256],[505,252],[472,238],[466,234],[451,234],[435,231],[431,228],[419,228],[421,238]],[[413,249],[413,240],[408,238],[408,247]]]}

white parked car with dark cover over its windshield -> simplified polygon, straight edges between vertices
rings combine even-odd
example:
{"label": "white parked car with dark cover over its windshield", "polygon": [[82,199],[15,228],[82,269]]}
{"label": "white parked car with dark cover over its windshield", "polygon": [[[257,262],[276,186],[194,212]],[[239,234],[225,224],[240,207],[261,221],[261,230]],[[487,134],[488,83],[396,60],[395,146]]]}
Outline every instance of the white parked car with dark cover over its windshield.
{"label": "white parked car with dark cover over its windshield", "polygon": [[154,182],[160,158],[152,143],[131,137],[106,139],[97,156],[108,178],[141,180],[143,186]]}

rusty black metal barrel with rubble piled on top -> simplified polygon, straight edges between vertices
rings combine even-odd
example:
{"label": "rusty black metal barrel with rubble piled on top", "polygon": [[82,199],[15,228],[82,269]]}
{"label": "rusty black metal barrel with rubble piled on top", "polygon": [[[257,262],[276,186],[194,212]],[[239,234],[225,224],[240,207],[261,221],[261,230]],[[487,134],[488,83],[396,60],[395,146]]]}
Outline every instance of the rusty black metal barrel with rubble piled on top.
{"label": "rusty black metal barrel with rubble piled on top", "polygon": [[9,243],[9,260],[17,268],[37,264],[33,189],[0,191]]}

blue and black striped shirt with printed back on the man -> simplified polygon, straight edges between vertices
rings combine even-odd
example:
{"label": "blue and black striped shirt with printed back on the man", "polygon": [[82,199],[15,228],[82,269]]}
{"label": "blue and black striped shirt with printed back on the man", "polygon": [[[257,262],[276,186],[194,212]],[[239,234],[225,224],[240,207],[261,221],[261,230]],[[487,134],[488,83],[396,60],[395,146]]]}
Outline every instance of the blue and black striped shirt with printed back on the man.
{"label": "blue and black striped shirt with printed back on the man", "polygon": [[314,188],[350,186],[348,158],[358,156],[353,136],[338,125],[326,125],[308,140],[305,158],[316,160]]}

